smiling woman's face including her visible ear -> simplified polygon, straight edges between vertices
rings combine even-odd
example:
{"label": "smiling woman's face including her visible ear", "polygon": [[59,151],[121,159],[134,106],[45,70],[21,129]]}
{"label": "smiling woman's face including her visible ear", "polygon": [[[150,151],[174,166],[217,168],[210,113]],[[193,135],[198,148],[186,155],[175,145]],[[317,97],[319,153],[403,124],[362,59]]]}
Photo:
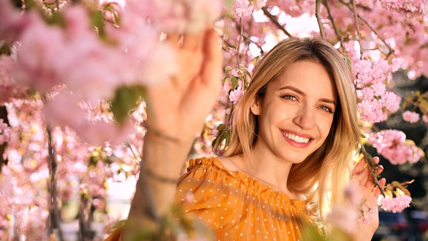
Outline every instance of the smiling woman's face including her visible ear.
{"label": "smiling woman's face including her visible ear", "polygon": [[255,148],[302,162],[327,138],[336,104],[336,88],[321,64],[292,64],[269,84],[264,98],[251,103],[259,124]]}

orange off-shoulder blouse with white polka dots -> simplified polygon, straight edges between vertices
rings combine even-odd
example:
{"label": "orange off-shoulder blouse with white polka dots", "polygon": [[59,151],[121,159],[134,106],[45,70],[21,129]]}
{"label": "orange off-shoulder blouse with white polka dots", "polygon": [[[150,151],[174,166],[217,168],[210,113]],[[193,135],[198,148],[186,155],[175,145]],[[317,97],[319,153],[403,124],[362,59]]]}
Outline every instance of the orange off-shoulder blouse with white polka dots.
{"label": "orange off-shoulder blouse with white polka dots", "polygon": [[[175,203],[205,222],[218,240],[301,240],[305,202],[275,192],[216,158],[190,159],[178,180]],[[116,230],[106,240],[120,240]]]}

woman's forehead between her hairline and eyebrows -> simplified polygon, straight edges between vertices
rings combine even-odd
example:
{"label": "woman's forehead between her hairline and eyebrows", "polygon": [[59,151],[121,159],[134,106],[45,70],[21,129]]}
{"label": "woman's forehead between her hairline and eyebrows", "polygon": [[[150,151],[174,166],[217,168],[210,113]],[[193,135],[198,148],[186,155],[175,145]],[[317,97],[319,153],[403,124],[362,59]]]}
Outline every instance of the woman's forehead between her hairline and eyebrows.
{"label": "woman's forehead between her hairline and eyebrows", "polygon": [[299,61],[287,67],[283,73],[271,82],[268,89],[293,86],[307,94],[337,99],[335,83],[327,69],[315,61]]}

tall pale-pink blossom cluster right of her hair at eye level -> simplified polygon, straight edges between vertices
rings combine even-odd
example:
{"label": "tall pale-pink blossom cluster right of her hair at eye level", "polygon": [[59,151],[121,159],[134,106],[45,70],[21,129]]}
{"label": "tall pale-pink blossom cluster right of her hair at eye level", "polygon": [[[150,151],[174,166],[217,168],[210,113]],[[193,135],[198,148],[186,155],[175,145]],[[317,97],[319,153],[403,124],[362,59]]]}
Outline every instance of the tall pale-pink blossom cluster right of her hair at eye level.
{"label": "tall pale-pink blossom cluster right of her hair at eye level", "polygon": [[401,98],[386,88],[386,84],[392,79],[391,72],[396,71],[399,64],[393,62],[394,64],[390,65],[384,59],[354,60],[356,63],[352,71],[356,77],[356,94],[360,100],[360,118],[370,123],[386,121],[388,116],[400,107]]}

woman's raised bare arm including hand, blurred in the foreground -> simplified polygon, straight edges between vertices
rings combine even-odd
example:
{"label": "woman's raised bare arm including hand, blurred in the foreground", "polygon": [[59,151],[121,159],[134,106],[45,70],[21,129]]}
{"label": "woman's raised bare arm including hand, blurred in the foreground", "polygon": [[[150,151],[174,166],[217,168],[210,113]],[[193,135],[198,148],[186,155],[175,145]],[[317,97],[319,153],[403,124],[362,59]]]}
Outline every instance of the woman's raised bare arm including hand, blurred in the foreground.
{"label": "woman's raised bare arm including hand, blurred in the foreground", "polygon": [[[221,88],[222,54],[215,30],[170,35],[167,41],[176,46],[180,72],[166,83],[148,87],[148,131],[124,240],[143,226],[156,225],[151,211],[159,216],[167,213],[176,188],[172,181],[178,178]],[[151,209],[150,203],[156,208]]]}

